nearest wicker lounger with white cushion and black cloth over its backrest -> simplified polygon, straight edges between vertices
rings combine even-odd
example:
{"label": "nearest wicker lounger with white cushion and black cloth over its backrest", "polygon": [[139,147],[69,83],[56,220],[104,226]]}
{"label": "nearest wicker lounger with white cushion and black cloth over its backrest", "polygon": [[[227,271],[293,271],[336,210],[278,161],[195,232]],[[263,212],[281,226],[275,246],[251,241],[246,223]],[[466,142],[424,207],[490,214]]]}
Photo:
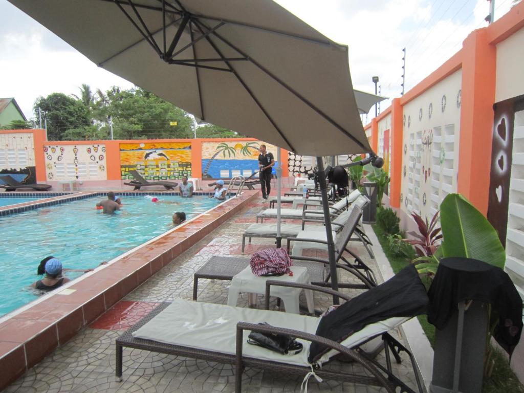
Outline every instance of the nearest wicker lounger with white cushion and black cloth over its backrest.
{"label": "nearest wicker lounger with white cushion and black cloth over its backrest", "polygon": [[[286,283],[267,281],[266,293],[270,293],[271,285],[286,286]],[[117,379],[122,380],[123,348],[128,347],[234,364],[237,393],[242,391],[245,367],[276,370],[285,376],[305,376],[304,383],[310,376],[317,376],[384,387],[390,393],[414,393],[415,390],[396,376],[391,368],[391,354],[397,363],[401,363],[400,353],[406,352],[416,376],[418,391],[423,391],[413,356],[388,333],[427,308],[427,293],[412,265],[351,300],[345,294],[327,288],[307,284],[294,284],[293,287],[329,293],[347,301],[322,318],[297,314],[286,314],[283,318],[278,311],[195,303],[183,299],[175,299],[171,304],[162,303],[116,339]],[[369,307],[369,304],[375,303],[377,307]],[[181,315],[184,318],[180,318]],[[259,322],[267,322],[271,326],[259,325]],[[250,345],[246,343],[249,331],[297,337],[303,350],[296,355],[281,355]],[[383,340],[385,364],[366,358],[359,351],[363,344],[375,337]],[[353,363],[342,363],[337,355]]]}

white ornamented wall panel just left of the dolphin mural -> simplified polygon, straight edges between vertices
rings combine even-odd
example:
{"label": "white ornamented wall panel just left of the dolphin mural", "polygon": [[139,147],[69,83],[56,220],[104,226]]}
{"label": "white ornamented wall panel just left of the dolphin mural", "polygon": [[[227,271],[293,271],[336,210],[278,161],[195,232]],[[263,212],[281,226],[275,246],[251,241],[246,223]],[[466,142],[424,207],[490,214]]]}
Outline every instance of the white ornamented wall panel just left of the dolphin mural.
{"label": "white ornamented wall panel just left of the dolphin mural", "polygon": [[107,180],[105,145],[44,145],[46,179]]}

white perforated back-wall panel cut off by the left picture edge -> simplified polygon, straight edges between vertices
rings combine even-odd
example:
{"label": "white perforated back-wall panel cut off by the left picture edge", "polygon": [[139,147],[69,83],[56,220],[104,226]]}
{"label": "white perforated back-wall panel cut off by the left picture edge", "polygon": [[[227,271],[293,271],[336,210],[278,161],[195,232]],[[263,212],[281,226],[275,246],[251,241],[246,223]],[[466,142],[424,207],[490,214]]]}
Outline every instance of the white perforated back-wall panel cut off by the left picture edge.
{"label": "white perforated back-wall panel cut off by the left picture edge", "polygon": [[36,182],[32,133],[0,134],[0,174],[6,173],[19,182]]}

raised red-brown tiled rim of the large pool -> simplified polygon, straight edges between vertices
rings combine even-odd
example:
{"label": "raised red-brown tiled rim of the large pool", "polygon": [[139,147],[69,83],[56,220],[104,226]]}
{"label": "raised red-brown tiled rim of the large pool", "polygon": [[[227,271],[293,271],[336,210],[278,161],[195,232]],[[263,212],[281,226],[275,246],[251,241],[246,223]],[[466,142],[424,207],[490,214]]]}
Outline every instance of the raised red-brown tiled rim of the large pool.
{"label": "raised red-brown tiled rim of the large pool", "polygon": [[[86,194],[92,193],[78,192],[61,198]],[[0,318],[0,390],[257,196],[259,191],[245,191]]]}

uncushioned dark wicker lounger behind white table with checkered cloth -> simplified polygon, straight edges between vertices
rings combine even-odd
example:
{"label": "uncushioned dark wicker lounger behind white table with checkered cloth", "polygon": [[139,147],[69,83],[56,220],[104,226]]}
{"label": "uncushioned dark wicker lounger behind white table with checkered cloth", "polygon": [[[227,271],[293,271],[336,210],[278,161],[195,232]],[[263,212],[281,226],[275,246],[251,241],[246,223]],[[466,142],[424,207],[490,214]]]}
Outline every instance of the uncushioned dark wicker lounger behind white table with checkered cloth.
{"label": "uncushioned dark wicker lounger behind white table with checkered cloth", "polygon": [[[337,269],[351,274],[359,281],[359,283],[339,282],[340,288],[369,289],[376,285],[373,271],[366,266],[362,259],[358,258],[354,253],[350,253],[355,258],[354,261],[350,261],[343,255],[361,216],[362,210],[355,206],[336,239],[335,262]],[[291,256],[291,259],[293,260],[293,265],[308,268],[309,277],[313,285],[321,287],[331,286],[331,272],[328,259],[303,256]],[[193,300],[196,300],[198,294],[199,279],[231,280],[233,276],[249,265],[249,260],[250,258],[247,257],[212,256],[194,274]]]}

